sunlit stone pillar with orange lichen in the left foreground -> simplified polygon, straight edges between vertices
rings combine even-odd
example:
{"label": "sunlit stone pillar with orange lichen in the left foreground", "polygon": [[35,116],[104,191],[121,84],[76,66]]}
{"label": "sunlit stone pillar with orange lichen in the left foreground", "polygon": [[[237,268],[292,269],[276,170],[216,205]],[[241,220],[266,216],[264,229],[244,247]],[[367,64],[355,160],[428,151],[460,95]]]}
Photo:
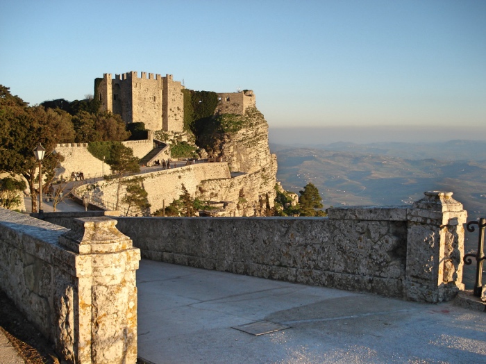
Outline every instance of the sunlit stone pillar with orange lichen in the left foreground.
{"label": "sunlit stone pillar with orange lichen in the left foreground", "polygon": [[59,238],[72,259],[54,277],[56,350],[76,364],[135,363],[140,249],[109,217],[74,222]]}

